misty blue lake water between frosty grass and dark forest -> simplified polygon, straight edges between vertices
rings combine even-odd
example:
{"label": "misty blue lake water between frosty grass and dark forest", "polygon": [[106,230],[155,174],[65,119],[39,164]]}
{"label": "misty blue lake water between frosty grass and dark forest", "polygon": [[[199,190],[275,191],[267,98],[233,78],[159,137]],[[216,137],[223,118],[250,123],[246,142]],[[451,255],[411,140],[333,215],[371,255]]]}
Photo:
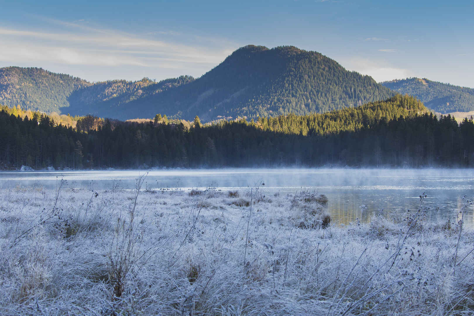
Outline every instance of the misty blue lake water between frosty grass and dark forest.
{"label": "misty blue lake water between frosty grass and dark forest", "polygon": [[[133,189],[145,171],[61,171],[0,172],[0,188],[43,185],[55,188],[64,179],[66,186],[83,189]],[[385,214],[416,210],[419,195],[430,207],[428,220],[456,219],[462,196],[474,197],[472,169],[217,169],[160,170],[147,174],[144,189],[246,190],[259,186],[265,194],[294,194],[317,190],[328,199],[328,210],[336,222],[348,224],[356,217],[367,221],[383,208]],[[365,207],[361,208],[362,205]],[[465,223],[474,226],[473,206],[465,212]]]}

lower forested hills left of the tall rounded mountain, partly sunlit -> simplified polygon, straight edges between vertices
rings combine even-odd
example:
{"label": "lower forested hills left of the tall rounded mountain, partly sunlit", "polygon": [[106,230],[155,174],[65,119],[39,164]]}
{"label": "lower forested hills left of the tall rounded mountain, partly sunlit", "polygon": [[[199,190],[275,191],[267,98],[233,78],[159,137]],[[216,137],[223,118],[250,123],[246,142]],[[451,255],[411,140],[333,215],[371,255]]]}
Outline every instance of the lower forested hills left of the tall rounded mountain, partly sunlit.
{"label": "lower forested hills left of the tall rounded mountain, partly sunlit", "polygon": [[[88,113],[114,117],[123,104],[193,81],[190,76],[155,82],[111,80],[91,83],[67,74],[41,68],[0,68],[0,104],[10,108],[73,115]],[[109,110],[109,108],[113,110]],[[134,113],[136,117],[137,113]],[[123,117],[121,117],[123,118]],[[130,117],[128,117],[130,118]]]}

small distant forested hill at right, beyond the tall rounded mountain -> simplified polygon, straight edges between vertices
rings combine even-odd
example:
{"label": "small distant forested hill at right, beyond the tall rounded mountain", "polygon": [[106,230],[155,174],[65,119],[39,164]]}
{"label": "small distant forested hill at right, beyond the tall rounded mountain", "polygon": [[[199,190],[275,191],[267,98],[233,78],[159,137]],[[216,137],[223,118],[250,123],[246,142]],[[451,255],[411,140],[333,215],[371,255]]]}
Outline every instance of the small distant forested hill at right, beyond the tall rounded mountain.
{"label": "small distant forested hill at right, beyond the tall rounded mountain", "polygon": [[474,110],[474,89],[431,81],[407,78],[381,82],[391,90],[417,97],[425,106],[437,112],[469,112]]}

